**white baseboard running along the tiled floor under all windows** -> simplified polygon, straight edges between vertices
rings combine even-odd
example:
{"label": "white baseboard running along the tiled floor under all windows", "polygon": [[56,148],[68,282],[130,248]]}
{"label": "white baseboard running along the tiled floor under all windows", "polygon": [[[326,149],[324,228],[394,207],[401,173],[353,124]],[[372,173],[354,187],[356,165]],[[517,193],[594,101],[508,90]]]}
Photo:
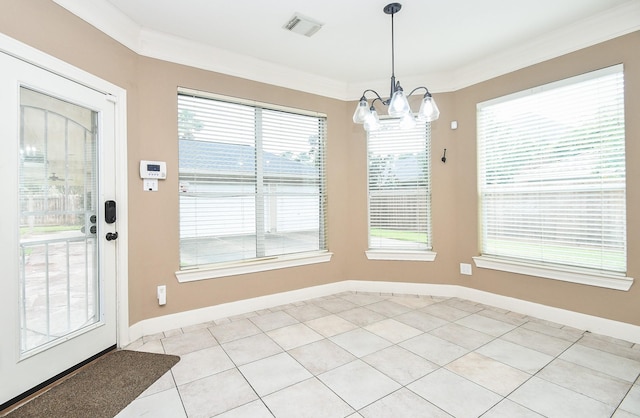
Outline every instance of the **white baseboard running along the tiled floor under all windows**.
{"label": "white baseboard running along the tiled floor under all windows", "polygon": [[120,341],[119,345],[125,346],[145,335],[349,291],[458,297],[640,344],[640,326],[637,325],[497,295],[468,287],[347,280],[146,319],[129,327],[129,340]]}

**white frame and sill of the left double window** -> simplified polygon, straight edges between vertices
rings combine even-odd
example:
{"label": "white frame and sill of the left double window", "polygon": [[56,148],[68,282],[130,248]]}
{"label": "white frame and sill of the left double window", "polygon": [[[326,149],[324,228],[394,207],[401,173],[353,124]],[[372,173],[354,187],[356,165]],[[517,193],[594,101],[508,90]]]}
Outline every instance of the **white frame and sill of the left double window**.
{"label": "white frame and sill of the left double window", "polygon": [[[217,101],[224,101],[230,103],[237,103],[241,105],[251,106],[255,108],[269,109],[269,110],[277,110],[277,111],[285,111],[289,113],[295,113],[300,115],[307,115],[319,118],[325,118],[326,115],[319,112],[309,112],[300,109],[293,109],[284,106],[278,106],[268,103],[256,102],[251,100],[238,99],[213,93],[202,92],[198,90],[192,90],[187,88],[178,88],[178,95],[188,95],[195,96],[204,99],[211,99]],[[326,121],[325,121],[326,125]],[[326,129],[325,129],[325,141],[323,147],[326,147]],[[260,152],[260,151],[257,151]],[[326,164],[326,155],[323,154],[323,164]],[[324,185],[322,185],[323,194],[324,194],[324,209],[321,210],[323,212],[321,214],[322,219],[321,223],[321,235],[322,241],[325,249],[320,249],[318,251],[307,251],[300,253],[292,253],[292,254],[282,254],[275,256],[265,256],[258,257],[252,259],[244,259],[244,260],[234,260],[229,262],[219,262],[213,264],[201,264],[201,265],[193,265],[181,268],[179,271],[175,272],[176,278],[179,282],[190,282],[197,280],[207,280],[207,279],[215,279],[219,277],[226,276],[234,276],[240,274],[248,274],[248,273],[257,273],[262,271],[281,269],[281,268],[290,268],[297,266],[304,266],[316,263],[324,263],[329,262],[332,257],[332,253],[328,251],[327,243],[326,243],[326,169],[323,170],[324,174]],[[320,210],[320,209],[319,209]],[[258,213],[256,214],[256,216]]]}

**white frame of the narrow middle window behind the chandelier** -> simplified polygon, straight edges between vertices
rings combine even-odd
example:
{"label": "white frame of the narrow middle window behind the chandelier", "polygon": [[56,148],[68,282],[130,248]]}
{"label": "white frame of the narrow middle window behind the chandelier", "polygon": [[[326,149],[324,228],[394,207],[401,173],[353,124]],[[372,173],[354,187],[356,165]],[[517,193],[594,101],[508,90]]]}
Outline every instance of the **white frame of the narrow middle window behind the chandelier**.
{"label": "white frame of the narrow middle window behind the chandelier", "polygon": [[[380,120],[381,125],[382,125],[382,130],[380,131],[382,133],[382,135],[385,136],[389,136],[389,138],[386,138],[386,140],[390,140],[393,141],[393,138],[391,138],[391,136],[398,136],[399,138],[402,137],[403,132],[407,132],[407,130],[404,130],[402,128],[400,128],[399,126],[399,120],[398,119],[391,119],[391,118],[384,118]],[[425,158],[426,160],[426,164],[427,164],[427,179],[426,179],[426,186],[425,186],[425,195],[426,195],[426,199],[427,199],[427,208],[426,208],[426,219],[423,219],[422,222],[425,223],[427,225],[426,227],[426,234],[427,234],[427,242],[426,242],[426,248],[424,249],[410,249],[410,248],[394,248],[393,246],[384,248],[384,247],[372,247],[371,246],[371,241],[372,241],[372,237],[371,237],[371,217],[372,217],[372,204],[371,204],[371,183],[370,183],[370,175],[371,175],[371,171],[370,171],[370,165],[371,162],[369,161],[369,156],[370,156],[370,149],[372,147],[371,145],[371,136],[372,135],[377,135],[376,132],[369,132],[367,134],[367,205],[368,205],[368,215],[367,215],[367,220],[368,220],[368,227],[367,227],[367,236],[368,236],[368,250],[365,252],[367,259],[369,260],[397,260],[397,261],[426,261],[426,262],[430,262],[430,261],[434,261],[436,259],[436,255],[437,253],[433,251],[432,249],[432,243],[433,243],[433,233],[432,233],[432,227],[431,227],[431,125],[429,122],[418,122],[418,126],[416,128],[413,128],[411,130],[412,133],[415,133],[416,130],[418,129],[424,129],[425,131],[425,148],[424,148],[424,155],[423,158]],[[382,138],[380,138],[382,139]],[[393,221],[392,219],[390,219],[390,221]]]}

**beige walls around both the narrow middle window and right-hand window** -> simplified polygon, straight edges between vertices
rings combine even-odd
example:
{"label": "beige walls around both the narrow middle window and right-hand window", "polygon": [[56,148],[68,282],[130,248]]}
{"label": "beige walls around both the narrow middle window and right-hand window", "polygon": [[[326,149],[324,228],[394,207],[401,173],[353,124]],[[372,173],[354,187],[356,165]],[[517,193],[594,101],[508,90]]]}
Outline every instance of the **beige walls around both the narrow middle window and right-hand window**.
{"label": "beige walls around both the narrow middle window and right-hand window", "polygon": [[[459,274],[459,263],[473,264],[479,255],[476,175],[476,104],[618,63],[625,69],[627,142],[628,275],[640,282],[640,32],[635,32],[557,59],[474,86],[435,95],[440,119],[432,125],[434,263],[367,261],[365,135],[352,127],[350,170],[352,245],[351,279],[446,283],[524,299],[640,325],[640,284],[628,292],[473,267]],[[355,106],[354,104],[352,104]],[[457,120],[459,128],[449,129]],[[440,157],[447,148],[447,162]]]}

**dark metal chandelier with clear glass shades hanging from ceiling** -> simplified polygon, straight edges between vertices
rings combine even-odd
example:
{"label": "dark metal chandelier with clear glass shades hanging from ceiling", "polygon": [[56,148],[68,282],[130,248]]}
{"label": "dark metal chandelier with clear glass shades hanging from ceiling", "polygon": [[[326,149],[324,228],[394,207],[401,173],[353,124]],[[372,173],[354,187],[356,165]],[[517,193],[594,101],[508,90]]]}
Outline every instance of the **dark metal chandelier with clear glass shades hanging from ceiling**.
{"label": "dark metal chandelier with clear glass shades hanging from ceiling", "polygon": [[[405,95],[404,90],[400,86],[400,82],[396,82],[393,15],[398,13],[401,8],[402,5],[400,3],[390,3],[382,9],[386,14],[391,15],[391,93],[386,100],[380,97],[375,90],[367,89],[362,93],[360,102],[353,114],[353,122],[363,124],[366,131],[375,131],[382,127],[378,112],[374,106],[376,101],[380,101],[382,105],[388,106],[389,116],[400,119],[400,127],[405,129],[416,126],[416,118],[418,120],[431,122],[440,116],[440,110],[438,110],[435,100],[433,100],[431,93],[429,93],[429,89],[426,87],[416,87],[411,93]],[[422,89],[424,89],[425,93],[422,97],[420,110],[418,114],[414,116],[407,97]],[[371,104],[367,101],[367,93],[375,95],[373,100],[371,100]]]}

